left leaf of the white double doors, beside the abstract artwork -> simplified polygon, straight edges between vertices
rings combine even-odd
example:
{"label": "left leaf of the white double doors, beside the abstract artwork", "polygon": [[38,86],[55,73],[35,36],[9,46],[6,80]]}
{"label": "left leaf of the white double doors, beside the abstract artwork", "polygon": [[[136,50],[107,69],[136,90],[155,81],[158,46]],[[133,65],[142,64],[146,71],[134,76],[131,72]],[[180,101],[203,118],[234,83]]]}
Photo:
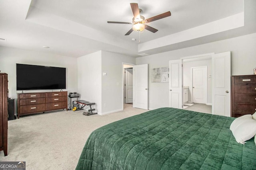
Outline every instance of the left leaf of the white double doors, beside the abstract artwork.
{"label": "left leaf of the white double doors, beside the abstract artwork", "polygon": [[182,59],[169,61],[169,107],[182,109]]}

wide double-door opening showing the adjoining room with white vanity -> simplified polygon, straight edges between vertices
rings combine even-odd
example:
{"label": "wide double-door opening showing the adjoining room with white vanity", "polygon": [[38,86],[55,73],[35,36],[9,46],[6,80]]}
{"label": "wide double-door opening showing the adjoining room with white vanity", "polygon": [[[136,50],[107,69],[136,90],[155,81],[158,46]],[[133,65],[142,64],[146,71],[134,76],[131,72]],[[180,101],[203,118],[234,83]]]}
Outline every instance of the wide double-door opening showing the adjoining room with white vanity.
{"label": "wide double-door opening showing the adjoining room with white vanity", "polygon": [[212,54],[183,59],[183,92],[188,96],[187,100],[183,100],[183,109],[211,113],[211,74]]}

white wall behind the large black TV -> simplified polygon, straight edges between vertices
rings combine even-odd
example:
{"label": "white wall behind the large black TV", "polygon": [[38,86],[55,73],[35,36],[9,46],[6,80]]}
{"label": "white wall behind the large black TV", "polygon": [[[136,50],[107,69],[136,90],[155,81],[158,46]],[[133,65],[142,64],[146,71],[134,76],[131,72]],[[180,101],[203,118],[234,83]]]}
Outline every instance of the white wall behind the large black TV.
{"label": "white wall behind the large black TV", "polygon": [[[0,70],[8,74],[9,97],[15,99],[15,106],[17,101],[16,63],[65,67],[66,90],[77,91],[76,58],[0,46]],[[41,91],[47,90],[24,90],[24,92]]]}

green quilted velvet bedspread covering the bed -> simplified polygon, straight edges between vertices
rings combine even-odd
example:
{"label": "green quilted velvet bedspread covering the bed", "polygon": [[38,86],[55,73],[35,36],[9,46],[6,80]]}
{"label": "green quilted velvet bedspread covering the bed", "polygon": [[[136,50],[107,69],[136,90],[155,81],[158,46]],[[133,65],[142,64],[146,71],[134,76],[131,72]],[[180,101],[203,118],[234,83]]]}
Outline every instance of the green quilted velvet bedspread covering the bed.
{"label": "green quilted velvet bedspread covering the bed", "polygon": [[234,139],[233,117],[164,107],[93,131],[76,170],[256,169],[254,138]]}

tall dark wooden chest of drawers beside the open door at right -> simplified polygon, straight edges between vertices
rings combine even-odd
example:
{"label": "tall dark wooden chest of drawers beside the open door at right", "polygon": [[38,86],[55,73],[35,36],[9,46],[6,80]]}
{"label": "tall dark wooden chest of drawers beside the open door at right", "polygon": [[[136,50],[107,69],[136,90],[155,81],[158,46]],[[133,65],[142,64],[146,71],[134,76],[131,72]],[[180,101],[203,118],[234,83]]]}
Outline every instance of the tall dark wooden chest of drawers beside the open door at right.
{"label": "tall dark wooden chest of drawers beside the open door at right", "polygon": [[256,111],[256,75],[231,77],[231,116],[240,117]]}

